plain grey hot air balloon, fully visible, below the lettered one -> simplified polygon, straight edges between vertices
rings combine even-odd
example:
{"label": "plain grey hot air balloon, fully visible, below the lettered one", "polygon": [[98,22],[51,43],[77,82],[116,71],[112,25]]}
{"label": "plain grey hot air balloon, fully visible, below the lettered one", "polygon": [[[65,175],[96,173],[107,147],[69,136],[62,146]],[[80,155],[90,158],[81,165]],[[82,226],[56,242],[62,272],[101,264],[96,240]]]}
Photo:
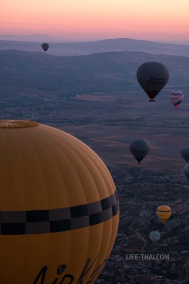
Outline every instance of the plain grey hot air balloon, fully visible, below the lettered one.
{"label": "plain grey hot air balloon, fully visible, below the lettered one", "polygon": [[150,143],[145,139],[134,139],[130,144],[130,151],[137,160],[137,164],[140,164],[150,151]]}

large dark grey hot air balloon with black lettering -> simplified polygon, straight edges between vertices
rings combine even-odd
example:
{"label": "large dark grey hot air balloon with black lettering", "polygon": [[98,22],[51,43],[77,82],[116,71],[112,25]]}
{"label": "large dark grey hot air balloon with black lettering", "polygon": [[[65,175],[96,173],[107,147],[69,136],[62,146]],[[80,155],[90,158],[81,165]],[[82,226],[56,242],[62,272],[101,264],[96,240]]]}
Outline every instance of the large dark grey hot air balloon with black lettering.
{"label": "large dark grey hot air balloon with black lettering", "polygon": [[169,71],[163,63],[146,62],[139,66],[136,76],[140,86],[149,96],[149,101],[155,101],[154,97],[169,80]]}

